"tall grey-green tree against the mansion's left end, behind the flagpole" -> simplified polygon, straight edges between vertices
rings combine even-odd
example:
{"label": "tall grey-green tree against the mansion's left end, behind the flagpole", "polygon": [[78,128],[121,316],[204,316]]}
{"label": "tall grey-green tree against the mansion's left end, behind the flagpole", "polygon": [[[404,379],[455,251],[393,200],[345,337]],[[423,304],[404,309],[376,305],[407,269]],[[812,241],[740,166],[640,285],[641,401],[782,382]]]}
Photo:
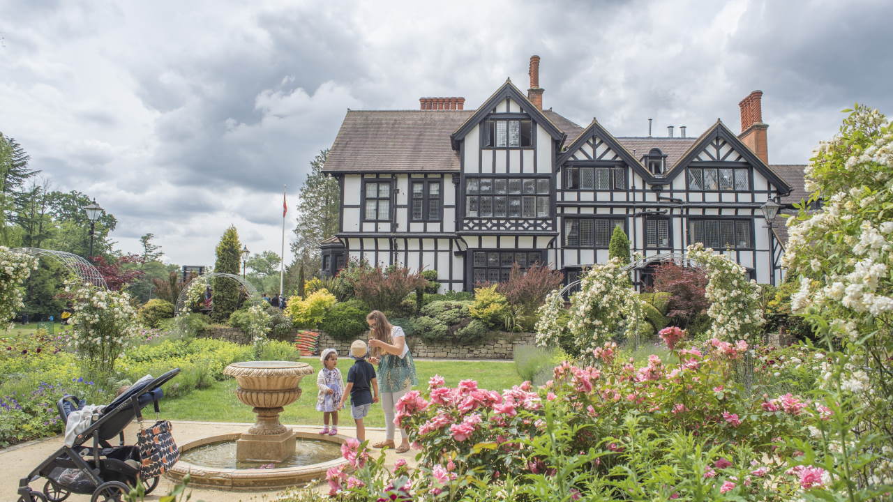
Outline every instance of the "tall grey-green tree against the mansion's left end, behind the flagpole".
{"label": "tall grey-green tree against the mansion's left end, behind the flagpole", "polygon": [[[320,242],[338,232],[338,181],[322,173],[326,155],[329,150],[321,150],[310,162],[310,172],[297,203],[295,240],[291,243],[295,259],[289,269],[299,266],[310,276],[320,270]],[[297,275],[297,272],[289,275]]]}

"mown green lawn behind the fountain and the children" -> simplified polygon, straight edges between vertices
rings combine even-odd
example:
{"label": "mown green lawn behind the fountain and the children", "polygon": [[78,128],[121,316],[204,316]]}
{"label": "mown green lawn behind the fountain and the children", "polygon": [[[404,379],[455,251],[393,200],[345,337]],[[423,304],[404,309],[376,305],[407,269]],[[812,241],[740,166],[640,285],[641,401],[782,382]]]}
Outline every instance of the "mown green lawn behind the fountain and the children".
{"label": "mown green lawn behind the fountain and the children", "polygon": [[[285,407],[280,414],[282,423],[321,424],[322,414],[316,411],[316,372],[319,371],[320,360],[316,357],[305,357],[304,361],[313,366],[313,374],[301,380],[301,397],[293,404]],[[352,361],[338,360],[338,368],[346,376]],[[488,362],[454,362],[454,361],[416,361],[416,371],[421,389],[427,386],[428,379],[438,374],[447,381],[447,385],[455,386],[459,381],[473,379],[478,381],[482,389],[502,390],[521,383],[521,377],[515,372],[512,361]],[[350,410],[340,413],[340,423],[353,425]],[[170,420],[196,420],[204,422],[246,422],[253,423],[255,414],[249,406],[243,405],[236,398],[236,381],[215,381],[210,388],[197,389],[183,397],[163,401],[162,413]],[[381,406],[372,406],[365,424],[371,427],[384,426],[384,414]]]}

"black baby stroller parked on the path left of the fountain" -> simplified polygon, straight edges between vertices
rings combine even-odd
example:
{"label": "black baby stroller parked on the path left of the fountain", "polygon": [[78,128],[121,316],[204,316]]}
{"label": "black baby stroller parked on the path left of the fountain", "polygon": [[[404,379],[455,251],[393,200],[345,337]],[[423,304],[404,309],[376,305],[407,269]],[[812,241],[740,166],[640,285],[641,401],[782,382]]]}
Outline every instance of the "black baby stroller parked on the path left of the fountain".
{"label": "black baby stroller parked on the path left of the fountain", "polygon": [[[71,447],[63,446],[19,481],[19,502],[62,502],[71,493],[92,494],[91,502],[119,502],[137,482],[146,493],[158,486],[160,476],[140,480],[140,456],[136,446],[124,444],[124,428],[137,418],[142,422],[142,409],[149,403],[159,412],[163,397],[162,385],[179,373],[179,368],[156,379],[138,381],[121,396],[105,406],[87,430],[81,432]],[[59,400],[56,407],[63,423],[83,401],[71,395]],[[119,437],[119,446],[108,440]],[[31,489],[29,483],[46,478],[43,491]]]}

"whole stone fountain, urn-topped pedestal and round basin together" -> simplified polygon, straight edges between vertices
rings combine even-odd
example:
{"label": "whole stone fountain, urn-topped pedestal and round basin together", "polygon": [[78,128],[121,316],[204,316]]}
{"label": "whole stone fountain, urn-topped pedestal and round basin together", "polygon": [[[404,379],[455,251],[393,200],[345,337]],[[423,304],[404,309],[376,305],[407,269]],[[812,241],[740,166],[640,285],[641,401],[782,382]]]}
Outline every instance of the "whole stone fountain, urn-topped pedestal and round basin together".
{"label": "whole stone fountain, urn-topped pedestal and round basin together", "polygon": [[195,487],[274,489],[318,480],[330,467],[346,463],[339,449],[345,436],[294,431],[280,423],[283,406],[301,397],[300,381],[312,372],[310,364],[288,361],[227,366],[223,373],[236,379],[238,400],[253,407],[254,425],[182,445],[179,462],[165,475],[181,481],[189,474]]}

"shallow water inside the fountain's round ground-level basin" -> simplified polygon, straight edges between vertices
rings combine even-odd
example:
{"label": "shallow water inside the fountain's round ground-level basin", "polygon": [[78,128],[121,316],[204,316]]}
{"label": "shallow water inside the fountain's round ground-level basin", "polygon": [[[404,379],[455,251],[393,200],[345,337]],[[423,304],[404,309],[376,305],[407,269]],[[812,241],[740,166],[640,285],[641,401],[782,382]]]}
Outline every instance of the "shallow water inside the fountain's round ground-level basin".
{"label": "shallow water inside the fountain's round ground-level basin", "polygon": [[[319,464],[341,457],[338,443],[321,439],[297,439],[295,455],[285,461],[274,464],[274,467],[300,467]],[[236,441],[220,441],[183,452],[180,458],[189,464],[196,464],[213,469],[258,469],[266,462],[248,462],[236,460]]]}

